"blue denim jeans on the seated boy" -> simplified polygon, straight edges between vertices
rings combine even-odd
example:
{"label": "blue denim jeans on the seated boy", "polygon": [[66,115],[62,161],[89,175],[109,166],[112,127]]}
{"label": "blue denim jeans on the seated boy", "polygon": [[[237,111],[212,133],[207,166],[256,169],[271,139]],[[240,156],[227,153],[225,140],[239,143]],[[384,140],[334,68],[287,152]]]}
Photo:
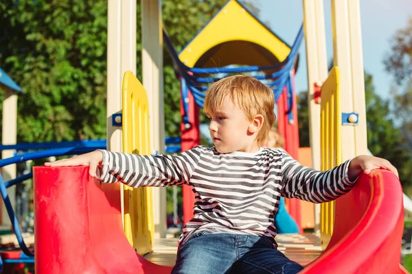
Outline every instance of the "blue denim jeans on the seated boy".
{"label": "blue denim jeans on the seated boy", "polygon": [[270,240],[253,235],[197,232],[177,251],[172,273],[298,273],[304,269],[273,248]]}

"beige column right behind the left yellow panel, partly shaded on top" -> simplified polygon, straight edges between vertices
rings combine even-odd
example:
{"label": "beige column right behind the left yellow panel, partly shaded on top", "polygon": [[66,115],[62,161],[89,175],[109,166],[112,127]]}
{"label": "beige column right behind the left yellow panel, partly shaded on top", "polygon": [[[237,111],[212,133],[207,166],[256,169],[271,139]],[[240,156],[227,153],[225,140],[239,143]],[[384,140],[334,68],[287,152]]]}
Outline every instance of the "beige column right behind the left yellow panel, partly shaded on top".
{"label": "beige column right behind the left yellow panel, partly shaded on top", "polygon": [[[141,55],[143,86],[148,92],[150,108],[150,143],[152,151],[165,152],[163,96],[163,31],[161,0],[141,0]],[[155,238],[166,232],[165,188],[153,189]]]}

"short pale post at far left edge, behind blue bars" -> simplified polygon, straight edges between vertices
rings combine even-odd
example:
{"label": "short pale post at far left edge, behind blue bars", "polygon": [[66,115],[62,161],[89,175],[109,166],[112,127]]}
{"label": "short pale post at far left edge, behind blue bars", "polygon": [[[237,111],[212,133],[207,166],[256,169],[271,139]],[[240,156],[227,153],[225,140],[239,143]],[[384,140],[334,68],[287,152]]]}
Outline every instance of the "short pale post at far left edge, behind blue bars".
{"label": "short pale post at far left edge, behind blue bars", "polygon": [[[3,145],[16,144],[17,136],[17,95],[9,90],[4,91],[3,101],[3,128],[2,128],[2,143]],[[10,158],[14,156],[14,150],[3,150],[1,152],[1,158]],[[10,179],[16,178],[16,164],[9,164],[4,166],[2,171],[4,182]],[[16,206],[16,186],[12,186],[7,190],[8,196],[12,206]],[[1,225],[7,225],[10,227],[10,218],[7,214],[7,210],[3,204],[1,210]]]}

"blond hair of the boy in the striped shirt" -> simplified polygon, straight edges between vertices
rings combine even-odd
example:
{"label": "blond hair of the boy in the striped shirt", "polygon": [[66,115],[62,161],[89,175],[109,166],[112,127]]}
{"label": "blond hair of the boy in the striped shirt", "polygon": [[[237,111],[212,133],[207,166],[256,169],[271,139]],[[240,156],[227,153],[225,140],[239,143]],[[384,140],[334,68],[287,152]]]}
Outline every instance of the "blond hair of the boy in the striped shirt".
{"label": "blond hair of the boy in the striped shirt", "polygon": [[251,76],[233,75],[223,78],[207,89],[205,112],[218,110],[227,95],[249,121],[253,121],[258,114],[263,116],[263,125],[256,137],[258,145],[262,145],[276,120],[273,112],[275,97],[271,88]]}

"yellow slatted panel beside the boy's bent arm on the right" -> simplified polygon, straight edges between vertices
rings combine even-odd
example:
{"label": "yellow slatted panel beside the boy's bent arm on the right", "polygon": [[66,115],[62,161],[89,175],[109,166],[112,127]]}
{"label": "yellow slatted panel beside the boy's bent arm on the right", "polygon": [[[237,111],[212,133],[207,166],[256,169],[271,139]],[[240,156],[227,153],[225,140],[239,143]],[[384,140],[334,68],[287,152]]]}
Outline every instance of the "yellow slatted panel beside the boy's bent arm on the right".
{"label": "yellow slatted panel beside the boy's bent arm on the right", "polygon": [[[341,164],[341,76],[334,66],[321,89],[321,170]],[[321,204],[321,247],[328,246],[333,233],[334,201]]]}

